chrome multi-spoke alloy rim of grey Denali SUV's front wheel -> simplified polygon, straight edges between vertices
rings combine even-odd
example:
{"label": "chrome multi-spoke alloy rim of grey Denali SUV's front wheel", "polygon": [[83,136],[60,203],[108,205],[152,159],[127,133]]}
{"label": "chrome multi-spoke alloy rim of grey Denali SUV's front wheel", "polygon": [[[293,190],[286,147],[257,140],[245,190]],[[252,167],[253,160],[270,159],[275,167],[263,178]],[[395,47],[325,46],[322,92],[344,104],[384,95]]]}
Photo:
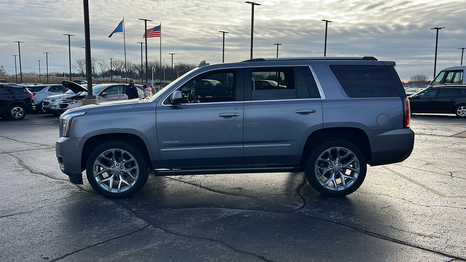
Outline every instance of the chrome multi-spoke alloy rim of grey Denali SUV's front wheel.
{"label": "chrome multi-spoke alloy rim of grey Denali SUV's front wheel", "polygon": [[121,193],[130,189],[139,177],[136,159],[122,149],[109,149],[94,162],[94,178],[104,190]]}

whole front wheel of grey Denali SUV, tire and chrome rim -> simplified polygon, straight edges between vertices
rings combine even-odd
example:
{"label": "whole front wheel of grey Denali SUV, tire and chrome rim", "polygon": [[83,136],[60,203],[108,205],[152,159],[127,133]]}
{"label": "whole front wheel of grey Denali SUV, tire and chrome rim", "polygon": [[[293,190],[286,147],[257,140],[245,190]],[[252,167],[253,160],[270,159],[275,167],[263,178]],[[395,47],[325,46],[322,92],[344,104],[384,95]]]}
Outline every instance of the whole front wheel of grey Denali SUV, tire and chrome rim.
{"label": "whole front wheel of grey Denali SUV, tire and chrome rim", "polygon": [[128,198],[147,181],[147,158],[134,145],[112,140],[99,145],[89,155],[86,174],[97,193],[111,199]]}

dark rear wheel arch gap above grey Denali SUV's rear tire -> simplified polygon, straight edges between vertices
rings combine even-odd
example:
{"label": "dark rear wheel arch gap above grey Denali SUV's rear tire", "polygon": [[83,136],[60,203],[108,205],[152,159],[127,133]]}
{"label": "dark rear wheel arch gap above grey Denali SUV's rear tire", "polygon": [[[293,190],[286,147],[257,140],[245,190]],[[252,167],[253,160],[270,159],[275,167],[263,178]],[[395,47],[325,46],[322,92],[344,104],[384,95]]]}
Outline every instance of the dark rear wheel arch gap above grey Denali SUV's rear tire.
{"label": "dark rear wheel arch gap above grey Denali SUV's rear tire", "polygon": [[332,138],[344,139],[355,144],[361,149],[367,163],[370,164],[372,152],[366,132],[356,127],[329,127],[318,129],[308,136],[301,154],[300,170],[304,170],[304,165],[315,145]]}

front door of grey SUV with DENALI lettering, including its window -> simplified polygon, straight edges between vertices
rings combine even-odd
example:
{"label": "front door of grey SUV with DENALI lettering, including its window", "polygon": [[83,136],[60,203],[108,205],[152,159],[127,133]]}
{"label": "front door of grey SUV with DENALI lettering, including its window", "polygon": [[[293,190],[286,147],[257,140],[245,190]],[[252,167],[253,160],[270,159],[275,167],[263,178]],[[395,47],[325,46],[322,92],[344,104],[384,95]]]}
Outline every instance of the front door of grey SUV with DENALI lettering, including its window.
{"label": "front door of grey SUV with DENALI lettering, including its window", "polygon": [[[185,101],[157,106],[157,137],[164,168],[245,165],[243,152],[243,68],[214,70],[195,76],[179,91]],[[217,83],[202,97],[188,100],[197,83]],[[217,82],[216,82],[217,81]]]}

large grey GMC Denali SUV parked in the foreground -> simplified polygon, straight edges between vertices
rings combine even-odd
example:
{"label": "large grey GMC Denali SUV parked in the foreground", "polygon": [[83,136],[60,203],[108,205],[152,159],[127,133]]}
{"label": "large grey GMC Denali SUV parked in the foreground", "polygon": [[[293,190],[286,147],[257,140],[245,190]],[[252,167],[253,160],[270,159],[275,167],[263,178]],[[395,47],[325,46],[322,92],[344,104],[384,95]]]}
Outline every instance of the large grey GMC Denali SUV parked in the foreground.
{"label": "large grey GMC Denali SUV parked in the foreground", "polygon": [[[260,80],[276,84],[264,88]],[[409,157],[409,121],[393,61],[203,61],[150,98],[66,111],[56,154],[72,183],[82,184],[86,170],[90,185],[108,198],[137,193],[151,170],[156,176],[304,171],[318,192],[344,196],[361,186],[367,164]]]}

